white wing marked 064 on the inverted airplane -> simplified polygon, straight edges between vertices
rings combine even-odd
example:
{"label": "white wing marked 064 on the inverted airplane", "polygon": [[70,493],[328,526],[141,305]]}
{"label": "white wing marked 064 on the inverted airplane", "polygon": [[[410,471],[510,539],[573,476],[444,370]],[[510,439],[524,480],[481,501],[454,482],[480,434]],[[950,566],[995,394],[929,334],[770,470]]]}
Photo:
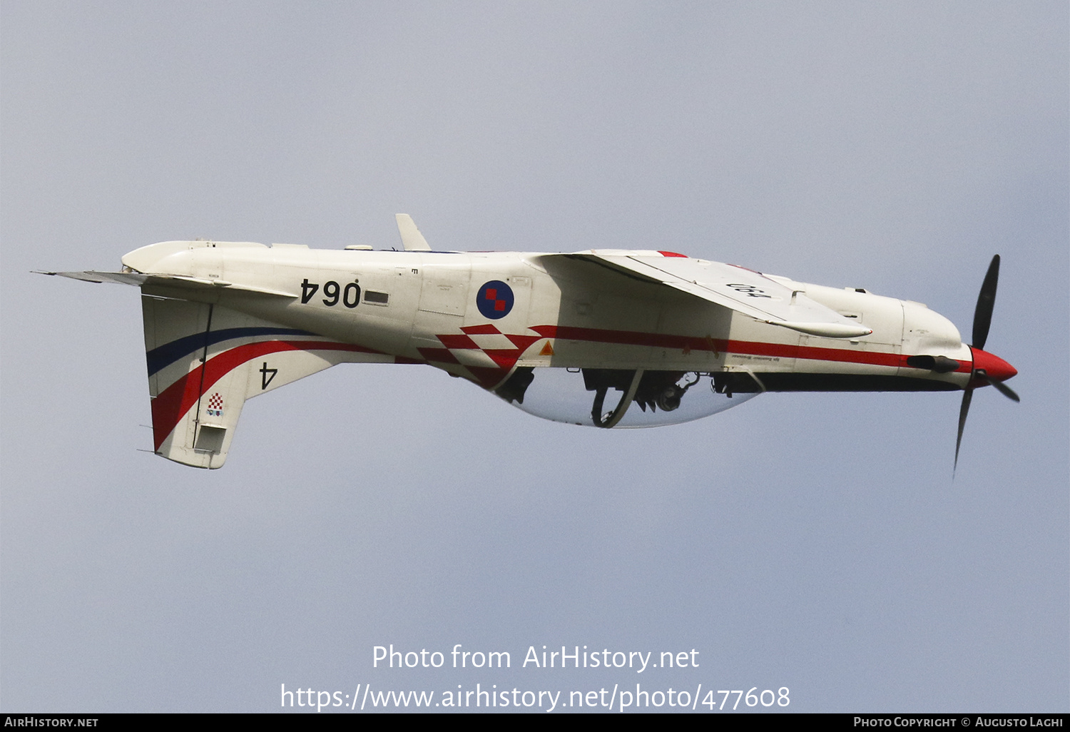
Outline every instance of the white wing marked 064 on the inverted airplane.
{"label": "white wing marked 064 on the inverted airplane", "polygon": [[735,264],[658,251],[647,254],[596,249],[544,256],[593,262],[618,275],[659,283],[763,323],[800,333],[826,338],[858,338],[873,332],[810,300],[801,291],[792,290],[760,272]]}

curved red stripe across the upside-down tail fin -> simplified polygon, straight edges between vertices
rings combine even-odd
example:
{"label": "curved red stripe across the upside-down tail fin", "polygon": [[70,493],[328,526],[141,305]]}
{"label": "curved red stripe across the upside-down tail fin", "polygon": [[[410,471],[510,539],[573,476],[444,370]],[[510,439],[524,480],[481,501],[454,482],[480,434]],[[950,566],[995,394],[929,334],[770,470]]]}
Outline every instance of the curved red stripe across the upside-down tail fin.
{"label": "curved red stripe across the upside-down tail fin", "polygon": [[[155,451],[164,444],[167,436],[178,426],[182,415],[188,412],[203,391],[257,356],[279,351],[351,351],[354,353],[381,353],[363,346],[352,344],[323,342],[320,340],[261,340],[255,344],[238,346],[209,359],[173,384],[160,392],[152,400],[152,437]],[[203,376],[202,376],[203,375]]]}

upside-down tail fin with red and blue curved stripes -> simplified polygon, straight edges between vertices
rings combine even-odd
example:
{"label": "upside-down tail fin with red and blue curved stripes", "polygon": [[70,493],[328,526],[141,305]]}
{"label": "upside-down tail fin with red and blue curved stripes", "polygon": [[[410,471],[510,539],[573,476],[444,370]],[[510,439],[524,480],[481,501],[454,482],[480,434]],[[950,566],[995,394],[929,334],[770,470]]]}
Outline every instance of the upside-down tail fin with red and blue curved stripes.
{"label": "upside-down tail fin with red and blue curved stripes", "polygon": [[142,295],[153,451],[220,468],[245,400],[345,362],[394,363],[219,305]]}

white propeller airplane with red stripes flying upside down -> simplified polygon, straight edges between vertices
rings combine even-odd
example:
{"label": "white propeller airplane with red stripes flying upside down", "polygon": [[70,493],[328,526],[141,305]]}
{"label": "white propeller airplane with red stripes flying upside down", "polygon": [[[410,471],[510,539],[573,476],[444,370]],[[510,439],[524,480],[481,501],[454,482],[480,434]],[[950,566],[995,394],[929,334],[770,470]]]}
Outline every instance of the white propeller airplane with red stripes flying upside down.
{"label": "white propeller airplane with red stripes flying upside down", "polygon": [[433,251],[172,241],[119,272],[42,272],[141,288],[153,452],[224,464],[246,399],[340,363],[425,364],[536,416],[597,428],[697,420],[764,392],[964,392],[1018,371],[921,303],[798,283],[667,250]]}

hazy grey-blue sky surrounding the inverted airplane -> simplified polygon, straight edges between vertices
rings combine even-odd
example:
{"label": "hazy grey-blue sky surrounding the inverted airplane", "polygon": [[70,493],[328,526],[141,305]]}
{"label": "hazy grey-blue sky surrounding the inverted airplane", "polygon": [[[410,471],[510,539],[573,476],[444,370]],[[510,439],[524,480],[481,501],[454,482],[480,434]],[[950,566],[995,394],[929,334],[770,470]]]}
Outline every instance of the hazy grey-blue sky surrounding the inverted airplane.
{"label": "hazy grey-blue sky surrounding the inverted airplane", "polygon": [[[641,683],[1066,711],[1067,30],[1064,2],[3,0],[0,707]],[[396,212],[437,248],[669,248],[964,334],[998,253],[1022,403],[975,394],[952,483],[958,393],[600,431],[342,365],[197,471],[137,452],[137,291],[29,274],[397,246]],[[513,668],[373,669],[389,643]],[[700,666],[520,668],[544,644]]]}

